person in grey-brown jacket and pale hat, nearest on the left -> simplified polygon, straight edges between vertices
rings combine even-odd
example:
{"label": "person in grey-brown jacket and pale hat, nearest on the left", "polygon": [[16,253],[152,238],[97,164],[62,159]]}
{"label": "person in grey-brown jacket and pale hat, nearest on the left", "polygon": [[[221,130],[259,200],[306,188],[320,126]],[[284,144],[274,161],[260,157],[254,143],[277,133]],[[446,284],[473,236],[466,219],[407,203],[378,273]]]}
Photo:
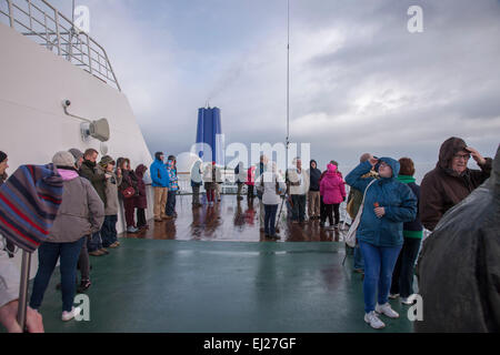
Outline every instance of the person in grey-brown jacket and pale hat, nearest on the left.
{"label": "person in grey-brown jacket and pale hat, nearest on the left", "polygon": [[39,266],[34,277],[30,307],[39,310],[50,277],[60,258],[62,321],[70,321],[80,310],[73,307],[77,262],[86,236],[101,229],[104,204],[91,183],[78,175],[69,152],[52,158],[63,180],[62,202],[49,237],[38,248]]}

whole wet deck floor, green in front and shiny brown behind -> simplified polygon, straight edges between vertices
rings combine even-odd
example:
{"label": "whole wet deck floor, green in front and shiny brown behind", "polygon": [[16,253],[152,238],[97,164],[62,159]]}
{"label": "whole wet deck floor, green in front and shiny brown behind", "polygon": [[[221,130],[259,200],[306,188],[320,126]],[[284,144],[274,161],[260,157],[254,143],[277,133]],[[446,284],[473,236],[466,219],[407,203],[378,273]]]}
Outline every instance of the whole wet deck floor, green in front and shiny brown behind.
{"label": "whole wet deck floor, green in front and shiny brown behind", "polygon": [[240,210],[234,200],[192,212],[183,196],[177,220],[152,222],[148,233],[92,257],[89,322],[60,321],[57,271],[40,310],[46,331],[411,332],[408,307],[393,301],[399,320],[382,317],[382,331],[363,322],[362,280],[351,257],[342,266],[343,243],[327,242],[334,232],[283,225],[286,241],[327,243],[254,243],[262,237],[258,207],[243,207],[244,200]]}

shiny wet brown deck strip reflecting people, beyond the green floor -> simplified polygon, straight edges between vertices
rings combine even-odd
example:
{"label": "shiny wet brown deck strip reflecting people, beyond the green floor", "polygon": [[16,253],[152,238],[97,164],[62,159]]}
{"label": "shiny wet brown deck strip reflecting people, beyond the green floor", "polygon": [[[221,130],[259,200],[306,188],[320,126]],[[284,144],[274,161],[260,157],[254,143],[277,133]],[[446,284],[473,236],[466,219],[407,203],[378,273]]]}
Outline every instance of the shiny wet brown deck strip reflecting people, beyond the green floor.
{"label": "shiny wet brown deck strip reflecting people, beyond the green floor", "polygon": [[[177,196],[178,217],[163,222],[149,221],[149,230],[123,237],[181,241],[271,241],[260,232],[259,200],[237,201],[236,195],[222,195],[214,206],[192,207],[191,195]],[[319,221],[292,224],[287,221],[286,206],[279,221],[280,242],[339,242],[344,230],[321,229]],[[278,210],[279,211],[279,210]]]}

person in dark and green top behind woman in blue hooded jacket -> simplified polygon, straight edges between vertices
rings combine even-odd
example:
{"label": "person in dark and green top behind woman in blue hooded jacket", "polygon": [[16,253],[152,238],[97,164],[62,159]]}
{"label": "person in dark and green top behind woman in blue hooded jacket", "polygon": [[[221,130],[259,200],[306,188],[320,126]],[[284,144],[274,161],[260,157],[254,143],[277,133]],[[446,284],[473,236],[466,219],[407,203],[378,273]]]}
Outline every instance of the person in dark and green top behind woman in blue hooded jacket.
{"label": "person in dark and green top behind woman in blue hooded jacket", "polygon": [[[420,200],[420,186],[414,183],[414,164],[410,158],[401,158],[399,160],[401,169],[398,180],[407,184],[417,197],[417,206]],[[401,303],[410,305],[412,302],[408,298],[413,294],[413,274],[414,263],[419,255],[420,243],[422,241],[422,223],[420,223],[420,214],[417,207],[417,217],[411,222],[403,224],[403,246],[399,253],[394,271],[392,273],[392,285],[390,298],[401,296]]]}

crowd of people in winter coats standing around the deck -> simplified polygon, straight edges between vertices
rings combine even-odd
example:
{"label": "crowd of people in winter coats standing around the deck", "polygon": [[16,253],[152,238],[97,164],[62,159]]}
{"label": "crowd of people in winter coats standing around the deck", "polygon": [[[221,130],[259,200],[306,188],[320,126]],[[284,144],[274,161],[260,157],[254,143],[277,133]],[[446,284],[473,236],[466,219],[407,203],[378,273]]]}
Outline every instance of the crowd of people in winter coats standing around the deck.
{"label": "crowd of people in winter coats standing around the deck", "polygon": [[[109,254],[108,248],[120,246],[117,239],[120,203],[123,204],[128,233],[148,229],[143,181],[148,168],[140,164],[132,170],[129,159],[119,158],[114,162],[109,155],[98,163],[98,155],[93,149],[84,153],[71,149],[56,153],[52,159],[64,190],[50,235],[39,247],[39,268],[30,298],[31,323],[37,324],[32,320],[39,316],[36,311],[41,306],[58,258],[62,320],[69,321],[80,312],[72,304],[76,291],[84,292],[91,285],[89,255],[102,256]],[[468,168],[470,158],[480,170]],[[413,270],[423,227],[433,231],[447,211],[489,178],[491,166],[490,158],[483,158],[462,139],[450,138],[441,145],[436,169],[426,174],[420,186],[413,178],[416,169],[410,158],[396,160],[370,153],[362,154],[359,165],[346,178],[333,160],[321,172],[317,161],[311,160],[306,170],[300,158],[296,158],[292,168],[282,174],[266,155],[260,158],[259,164],[247,170],[239,163],[234,176],[238,201],[243,199],[243,184],[249,200],[259,199],[260,230],[271,240],[280,239],[277,231],[280,204],[287,205],[291,224],[317,220],[321,227],[327,227],[328,220],[328,227],[332,230],[339,227],[342,202],[347,202],[347,212],[352,219],[360,213],[353,268],[363,274],[364,321],[373,328],[382,328],[381,314],[399,317],[389,298],[399,297],[402,304],[412,304]],[[0,152],[0,185],[7,179],[7,169],[8,156]],[[176,156],[169,155],[164,161],[163,153],[157,152],[150,176],[154,221],[176,219],[179,190]],[[221,183],[221,171],[216,163],[206,169],[201,162],[194,163],[191,170],[192,206],[202,206],[200,189],[203,184],[208,207],[220,202]],[[350,186],[349,196],[346,184]],[[10,256],[13,250],[12,244],[6,245]],[[78,290],[77,267],[81,273]],[[8,308],[4,306],[16,301],[17,295],[2,290],[0,295],[0,316],[6,324]],[[7,324],[14,329],[13,323]]]}

